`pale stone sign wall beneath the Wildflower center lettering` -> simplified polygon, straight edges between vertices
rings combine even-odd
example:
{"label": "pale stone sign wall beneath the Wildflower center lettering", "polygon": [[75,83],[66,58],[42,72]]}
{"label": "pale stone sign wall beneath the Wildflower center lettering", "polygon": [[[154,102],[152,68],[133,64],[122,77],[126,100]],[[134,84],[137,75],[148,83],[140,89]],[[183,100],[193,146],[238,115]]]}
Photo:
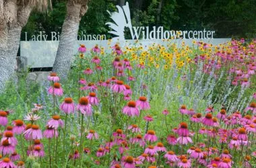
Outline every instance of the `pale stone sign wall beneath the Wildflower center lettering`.
{"label": "pale stone sign wall beneath the Wildflower center lettering", "polygon": [[[203,41],[210,44],[224,44],[228,42],[230,38],[214,38],[214,39],[203,39],[197,41]],[[121,47],[131,46],[135,43],[135,40],[125,40],[125,41],[116,41],[111,42],[110,46],[114,46],[116,43],[119,43]],[[185,42],[185,44],[192,46],[192,39],[174,39],[169,42],[163,40],[139,40],[138,44],[141,44],[144,48],[156,43],[166,45],[169,43],[176,43],[178,46],[181,46],[181,43]],[[43,67],[53,67],[53,63],[55,61],[55,56],[57,53],[59,41],[22,41],[20,42],[20,56],[26,58],[28,66],[32,68],[43,68]],[[112,50],[109,48],[108,40],[90,40],[90,41],[77,41],[76,44],[73,45],[73,54],[77,54],[77,48],[79,44],[85,44],[86,48],[90,50],[96,44],[98,46],[103,46],[106,49],[106,52],[111,52]]]}

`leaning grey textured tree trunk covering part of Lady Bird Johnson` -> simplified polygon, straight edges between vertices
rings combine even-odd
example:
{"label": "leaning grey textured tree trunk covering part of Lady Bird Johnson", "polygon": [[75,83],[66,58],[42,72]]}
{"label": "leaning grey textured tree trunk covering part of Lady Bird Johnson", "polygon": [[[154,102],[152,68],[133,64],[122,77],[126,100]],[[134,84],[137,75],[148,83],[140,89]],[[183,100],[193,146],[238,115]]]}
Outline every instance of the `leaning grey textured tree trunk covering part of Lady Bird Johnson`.
{"label": "leaning grey textured tree trunk covering part of Lady Bird Johnson", "polygon": [[77,40],[79,22],[87,8],[87,1],[86,4],[72,3],[72,1],[67,3],[67,15],[61,30],[59,47],[53,65],[53,72],[57,73],[61,79],[67,78],[73,60],[73,47]]}

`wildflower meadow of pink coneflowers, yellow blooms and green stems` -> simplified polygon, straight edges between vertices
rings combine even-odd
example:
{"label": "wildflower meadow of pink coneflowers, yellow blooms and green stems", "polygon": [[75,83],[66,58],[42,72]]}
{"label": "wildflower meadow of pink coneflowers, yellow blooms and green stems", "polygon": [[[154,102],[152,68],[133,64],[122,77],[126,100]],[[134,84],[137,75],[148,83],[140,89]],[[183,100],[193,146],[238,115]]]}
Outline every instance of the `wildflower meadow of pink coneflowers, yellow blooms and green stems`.
{"label": "wildflower meadow of pink coneflowers, yellow blooms and green stems", "polygon": [[256,40],[77,48],[0,95],[0,167],[256,167]]}

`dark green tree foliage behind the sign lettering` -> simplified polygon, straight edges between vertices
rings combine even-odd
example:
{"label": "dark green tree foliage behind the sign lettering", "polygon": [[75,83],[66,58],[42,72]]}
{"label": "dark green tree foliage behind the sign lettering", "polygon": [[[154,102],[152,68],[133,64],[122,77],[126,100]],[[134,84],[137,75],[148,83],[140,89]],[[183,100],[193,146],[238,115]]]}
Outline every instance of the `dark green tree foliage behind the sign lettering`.
{"label": "dark green tree foliage behind the sign lettering", "polygon": [[[216,31],[216,38],[255,38],[255,0],[129,0],[133,26],[164,26],[166,30]],[[82,17],[79,34],[108,34],[106,12],[115,11],[122,0],[90,1],[88,13]],[[65,1],[53,1],[48,13],[32,13],[24,28],[28,35],[45,31],[61,32],[65,19]],[[107,36],[110,38],[110,35]],[[22,34],[24,40],[24,33]]]}

